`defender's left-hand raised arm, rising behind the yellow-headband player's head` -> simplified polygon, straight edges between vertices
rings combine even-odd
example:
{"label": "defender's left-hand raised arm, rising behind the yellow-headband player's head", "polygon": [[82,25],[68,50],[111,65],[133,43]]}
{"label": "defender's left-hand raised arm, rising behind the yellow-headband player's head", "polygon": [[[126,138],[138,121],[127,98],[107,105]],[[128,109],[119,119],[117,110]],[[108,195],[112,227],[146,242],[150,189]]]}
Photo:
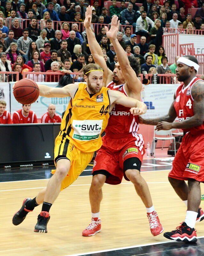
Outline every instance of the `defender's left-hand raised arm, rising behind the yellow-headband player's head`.
{"label": "defender's left-hand raised arm, rising behind the yellow-headband player's head", "polygon": [[[112,71],[107,68],[106,61],[103,58],[103,52],[98,44],[96,37],[91,29],[91,18],[92,18],[92,6],[86,8],[85,20],[83,22],[84,27],[86,28],[86,35],[89,43],[89,49],[93,56],[95,63],[97,63],[101,68],[104,69],[104,83],[109,83],[112,80]],[[107,81],[108,80],[108,81]],[[106,82],[107,81],[107,82]]]}

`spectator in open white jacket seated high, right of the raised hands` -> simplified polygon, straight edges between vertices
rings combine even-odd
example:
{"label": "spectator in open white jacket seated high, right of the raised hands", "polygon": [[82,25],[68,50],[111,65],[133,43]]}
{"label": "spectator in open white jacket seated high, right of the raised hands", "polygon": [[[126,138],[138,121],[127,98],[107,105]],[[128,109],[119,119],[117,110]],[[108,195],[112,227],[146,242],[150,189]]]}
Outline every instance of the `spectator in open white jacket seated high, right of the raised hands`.
{"label": "spectator in open white jacket seated high, right of the raised hands", "polygon": [[145,36],[146,38],[149,36],[150,27],[154,27],[154,22],[147,17],[145,11],[142,12],[141,16],[136,21],[136,35]]}

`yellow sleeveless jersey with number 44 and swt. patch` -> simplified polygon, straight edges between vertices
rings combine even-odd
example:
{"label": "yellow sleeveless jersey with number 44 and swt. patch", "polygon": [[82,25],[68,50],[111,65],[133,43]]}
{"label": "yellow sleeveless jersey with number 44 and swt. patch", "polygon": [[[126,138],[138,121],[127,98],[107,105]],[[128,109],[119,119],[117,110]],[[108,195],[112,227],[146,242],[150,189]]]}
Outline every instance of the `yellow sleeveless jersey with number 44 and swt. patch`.
{"label": "yellow sleeveless jersey with number 44 and swt. patch", "polygon": [[101,133],[108,124],[110,99],[108,88],[90,96],[80,83],[63,116],[59,136],[71,140],[83,152],[94,152],[102,145]]}

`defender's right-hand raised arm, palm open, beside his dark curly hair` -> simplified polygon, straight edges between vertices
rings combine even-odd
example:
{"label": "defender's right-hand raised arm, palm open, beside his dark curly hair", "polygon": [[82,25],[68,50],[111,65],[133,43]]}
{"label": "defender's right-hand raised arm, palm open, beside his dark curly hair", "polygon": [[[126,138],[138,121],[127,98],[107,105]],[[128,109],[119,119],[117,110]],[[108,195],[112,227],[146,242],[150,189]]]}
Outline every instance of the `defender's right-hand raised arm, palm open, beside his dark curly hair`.
{"label": "defender's right-hand raised arm, palm open, beside his dark curly hair", "polygon": [[[120,21],[118,21],[118,17],[113,17],[111,21],[111,28],[108,31],[108,28],[105,27],[106,29],[106,35],[107,37],[111,40],[117,58],[118,62],[120,64],[120,68],[122,70],[123,76],[125,77],[126,80],[126,85],[129,91],[129,95],[133,96],[134,98],[137,98],[138,100],[140,99],[140,92],[142,90],[142,83],[138,79],[135,71],[131,68],[128,56],[123,50],[122,46],[118,42],[117,39],[117,33],[119,29],[119,24]],[[134,95],[135,94],[135,95]]]}

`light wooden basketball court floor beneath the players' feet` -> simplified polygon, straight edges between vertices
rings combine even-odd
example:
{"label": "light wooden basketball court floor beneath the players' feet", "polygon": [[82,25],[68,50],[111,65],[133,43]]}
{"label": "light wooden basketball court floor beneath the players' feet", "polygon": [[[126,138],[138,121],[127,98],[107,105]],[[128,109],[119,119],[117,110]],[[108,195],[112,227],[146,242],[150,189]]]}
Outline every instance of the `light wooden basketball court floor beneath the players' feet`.
{"label": "light wooden basketball court floor beneath the players' feet", "polygon": [[[186,206],[168,182],[172,158],[146,159],[142,176],[148,183],[153,204],[164,227],[171,231],[184,221]],[[41,206],[30,212],[19,225],[12,216],[25,197],[35,197],[46,187],[52,166],[0,170],[0,256],[202,256],[204,255],[204,221],[196,223],[198,242],[185,244],[150,233],[145,207],[133,185],[123,180],[120,185],[103,186],[100,217],[102,230],[95,236],[83,237],[90,224],[90,164],[69,188],[59,194],[51,207],[48,233],[33,229]],[[201,184],[201,193],[204,188]],[[204,201],[201,207],[204,208]]]}

